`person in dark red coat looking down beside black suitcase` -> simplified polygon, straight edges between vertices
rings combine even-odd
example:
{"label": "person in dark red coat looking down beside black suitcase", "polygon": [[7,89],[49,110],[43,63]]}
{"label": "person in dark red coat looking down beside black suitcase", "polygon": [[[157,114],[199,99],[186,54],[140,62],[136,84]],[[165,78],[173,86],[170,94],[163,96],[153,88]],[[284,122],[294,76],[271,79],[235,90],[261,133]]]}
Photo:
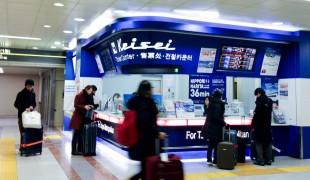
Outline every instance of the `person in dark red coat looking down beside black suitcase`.
{"label": "person in dark red coat looking down beside black suitcase", "polygon": [[72,137],[72,155],[80,155],[81,151],[81,135],[82,135],[82,125],[85,113],[87,110],[94,108],[92,104],[92,86],[86,86],[80,93],[75,96],[74,99],[74,112],[69,124],[69,128],[74,129]]}

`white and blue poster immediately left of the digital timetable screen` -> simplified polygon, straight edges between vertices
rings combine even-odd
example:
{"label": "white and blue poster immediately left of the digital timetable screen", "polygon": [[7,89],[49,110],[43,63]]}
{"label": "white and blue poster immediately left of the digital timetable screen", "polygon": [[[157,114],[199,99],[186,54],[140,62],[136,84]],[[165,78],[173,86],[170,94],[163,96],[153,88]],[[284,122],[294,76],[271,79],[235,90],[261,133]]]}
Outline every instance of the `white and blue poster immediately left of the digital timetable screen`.
{"label": "white and blue poster immediately left of the digital timetable screen", "polygon": [[215,55],[216,55],[216,49],[201,48],[197,73],[212,73],[214,67]]}

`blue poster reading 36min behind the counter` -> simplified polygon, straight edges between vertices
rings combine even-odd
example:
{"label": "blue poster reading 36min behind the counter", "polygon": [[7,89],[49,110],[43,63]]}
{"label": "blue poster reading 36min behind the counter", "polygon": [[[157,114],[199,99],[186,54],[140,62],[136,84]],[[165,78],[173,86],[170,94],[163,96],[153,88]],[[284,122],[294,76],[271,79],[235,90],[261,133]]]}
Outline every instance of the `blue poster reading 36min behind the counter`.
{"label": "blue poster reading 36min behind the counter", "polygon": [[204,104],[206,96],[212,96],[213,92],[220,90],[222,99],[226,99],[226,77],[210,75],[189,76],[189,99],[194,104]]}

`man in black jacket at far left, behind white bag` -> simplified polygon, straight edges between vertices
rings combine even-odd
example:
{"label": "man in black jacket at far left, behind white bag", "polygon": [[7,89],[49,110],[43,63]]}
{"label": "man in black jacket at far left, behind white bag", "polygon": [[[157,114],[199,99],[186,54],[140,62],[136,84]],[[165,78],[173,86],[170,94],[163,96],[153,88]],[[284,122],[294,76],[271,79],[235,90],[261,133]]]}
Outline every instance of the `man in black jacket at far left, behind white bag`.
{"label": "man in black jacket at far left, behind white bag", "polygon": [[33,90],[34,81],[32,79],[27,79],[25,81],[25,88],[20,91],[14,103],[16,109],[18,109],[18,127],[20,136],[23,132],[23,121],[22,113],[24,111],[32,111],[36,107],[36,94]]}

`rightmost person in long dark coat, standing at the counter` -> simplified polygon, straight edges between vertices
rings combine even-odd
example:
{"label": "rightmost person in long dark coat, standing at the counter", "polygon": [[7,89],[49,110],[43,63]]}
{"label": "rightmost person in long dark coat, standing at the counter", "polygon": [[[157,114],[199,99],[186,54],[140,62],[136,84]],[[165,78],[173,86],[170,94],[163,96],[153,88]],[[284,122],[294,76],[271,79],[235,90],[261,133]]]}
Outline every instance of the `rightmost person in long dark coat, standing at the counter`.
{"label": "rightmost person in long dark coat, standing at the counter", "polygon": [[256,145],[257,159],[254,164],[271,165],[272,154],[272,132],[271,132],[271,112],[272,100],[266,96],[262,88],[254,91],[256,96],[256,107],[252,120],[253,139]]}

